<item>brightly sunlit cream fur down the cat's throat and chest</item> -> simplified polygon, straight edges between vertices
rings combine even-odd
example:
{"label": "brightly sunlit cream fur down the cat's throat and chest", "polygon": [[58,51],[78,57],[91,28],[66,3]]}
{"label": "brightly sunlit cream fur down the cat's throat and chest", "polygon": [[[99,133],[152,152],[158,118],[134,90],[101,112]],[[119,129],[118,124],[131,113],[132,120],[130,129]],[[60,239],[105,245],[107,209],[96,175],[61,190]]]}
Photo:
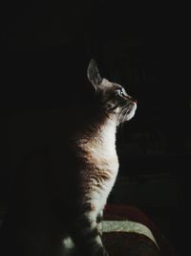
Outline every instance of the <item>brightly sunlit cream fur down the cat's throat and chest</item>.
{"label": "brightly sunlit cream fur down the cat's throat and chest", "polygon": [[99,176],[105,176],[101,182],[93,180],[91,190],[91,203],[96,207],[92,214],[97,215],[104,207],[117,177],[118,158],[116,151],[116,122],[108,119],[107,123],[99,128],[98,134],[83,145],[83,149],[89,151],[90,160],[96,163],[96,172]]}

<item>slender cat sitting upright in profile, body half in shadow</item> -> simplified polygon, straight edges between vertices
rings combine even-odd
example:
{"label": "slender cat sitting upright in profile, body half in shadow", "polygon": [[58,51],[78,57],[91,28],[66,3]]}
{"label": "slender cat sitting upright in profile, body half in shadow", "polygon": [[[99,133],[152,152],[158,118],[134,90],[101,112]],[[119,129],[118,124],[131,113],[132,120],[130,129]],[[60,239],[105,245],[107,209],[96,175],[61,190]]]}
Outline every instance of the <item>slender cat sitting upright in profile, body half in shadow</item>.
{"label": "slender cat sitting upright in profile, body half in shadow", "polygon": [[101,221],[117,178],[117,128],[134,117],[137,101],[101,78],[95,59],[87,77],[95,92],[85,118],[67,140],[33,151],[20,168],[2,227],[1,256],[108,255]]}

